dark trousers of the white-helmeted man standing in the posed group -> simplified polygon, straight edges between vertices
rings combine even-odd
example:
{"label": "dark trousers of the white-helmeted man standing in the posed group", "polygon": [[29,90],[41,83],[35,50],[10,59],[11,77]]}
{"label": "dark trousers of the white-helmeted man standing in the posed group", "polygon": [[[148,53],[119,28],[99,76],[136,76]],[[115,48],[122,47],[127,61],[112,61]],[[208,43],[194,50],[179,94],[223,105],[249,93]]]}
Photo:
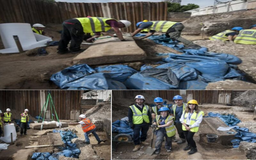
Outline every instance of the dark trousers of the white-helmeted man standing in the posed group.
{"label": "dark trousers of the white-helmeted man standing in the posed group", "polygon": [[[149,129],[149,123],[134,124],[133,141],[135,145],[139,145],[140,141],[144,142],[147,139],[148,129]],[[141,135],[140,135],[140,131],[141,131]]]}

